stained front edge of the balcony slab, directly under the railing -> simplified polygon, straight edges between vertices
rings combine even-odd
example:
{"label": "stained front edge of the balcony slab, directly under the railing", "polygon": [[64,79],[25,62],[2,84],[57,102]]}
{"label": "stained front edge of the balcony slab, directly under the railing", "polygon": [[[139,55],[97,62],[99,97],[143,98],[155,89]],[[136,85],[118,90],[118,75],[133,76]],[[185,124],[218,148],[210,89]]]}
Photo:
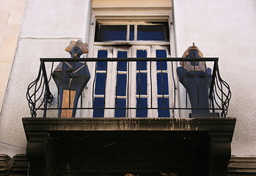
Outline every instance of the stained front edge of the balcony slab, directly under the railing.
{"label": "stained front edge of the balcony slab, directly under the railing", "polygon": [[233,131],[235,118],[23,118],[25,131]]}

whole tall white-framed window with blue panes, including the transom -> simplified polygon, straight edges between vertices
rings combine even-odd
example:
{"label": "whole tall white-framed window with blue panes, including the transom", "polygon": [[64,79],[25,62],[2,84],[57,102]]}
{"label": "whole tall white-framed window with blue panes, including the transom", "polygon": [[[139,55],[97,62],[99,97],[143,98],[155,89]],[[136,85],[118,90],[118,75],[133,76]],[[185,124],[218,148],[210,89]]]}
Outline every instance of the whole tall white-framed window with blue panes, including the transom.
{"label": "whole tall white-framed window with blue panes, including the transom", "polygon": [[[166,58],[171,54],[169,15],[108,18],[100,14],[93,20],[89,57]],[[169,109],[147,109],[173,106],[172,67],[167,62],[91,63],[92,77],[87,91],[91,93],[84,101],[96,109],[87,110],[84,116],[174,117],[174,111]]]}

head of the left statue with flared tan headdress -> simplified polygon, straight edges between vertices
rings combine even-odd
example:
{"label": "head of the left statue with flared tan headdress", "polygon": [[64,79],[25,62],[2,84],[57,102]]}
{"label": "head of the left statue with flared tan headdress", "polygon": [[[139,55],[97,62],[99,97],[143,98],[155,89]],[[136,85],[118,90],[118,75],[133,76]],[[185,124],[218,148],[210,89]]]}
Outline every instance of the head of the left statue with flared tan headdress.
{"label": "head of the left statue with flared tan headdress", "polygon": [[71,58],[80,58],[82,54],[88,53],[87,43],[83,43],[81,40],[71,41],[65,51],[70,53]]}

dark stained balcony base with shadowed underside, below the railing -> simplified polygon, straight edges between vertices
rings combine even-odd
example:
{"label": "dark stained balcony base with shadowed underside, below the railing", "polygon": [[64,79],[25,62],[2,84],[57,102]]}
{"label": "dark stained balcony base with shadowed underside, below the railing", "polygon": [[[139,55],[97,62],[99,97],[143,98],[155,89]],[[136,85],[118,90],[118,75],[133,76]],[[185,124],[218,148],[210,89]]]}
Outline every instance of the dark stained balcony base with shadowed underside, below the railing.
{"label": "dark stained balcony base with shadowed underside, below the railing", "polygon": [[235,118],[23,118],[31,175],[227,176]]}

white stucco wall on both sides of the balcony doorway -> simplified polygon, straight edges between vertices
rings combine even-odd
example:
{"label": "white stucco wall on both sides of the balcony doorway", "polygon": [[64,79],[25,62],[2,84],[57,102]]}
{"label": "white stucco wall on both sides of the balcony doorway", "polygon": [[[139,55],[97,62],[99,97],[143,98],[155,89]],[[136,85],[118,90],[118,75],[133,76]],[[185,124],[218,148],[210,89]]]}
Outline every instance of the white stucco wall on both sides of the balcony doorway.
{"label": "white stucco wall on both sides of the balcony doorway", "polygon": [[[228,117],[237,117],[233,155],[256,155],[256,2],[173,0],[177,56],[196,43],[205,56],[219,57],[222,78],[233,97]],[[0,153],[25,153],[21,122],[29,116],[26,88],[37,76],[40,57],[69,57],[70,40],[89,36],[89,0],[27,0],[18,49],[0,117]],[[0,41],[3,41],[0,37]]]}

